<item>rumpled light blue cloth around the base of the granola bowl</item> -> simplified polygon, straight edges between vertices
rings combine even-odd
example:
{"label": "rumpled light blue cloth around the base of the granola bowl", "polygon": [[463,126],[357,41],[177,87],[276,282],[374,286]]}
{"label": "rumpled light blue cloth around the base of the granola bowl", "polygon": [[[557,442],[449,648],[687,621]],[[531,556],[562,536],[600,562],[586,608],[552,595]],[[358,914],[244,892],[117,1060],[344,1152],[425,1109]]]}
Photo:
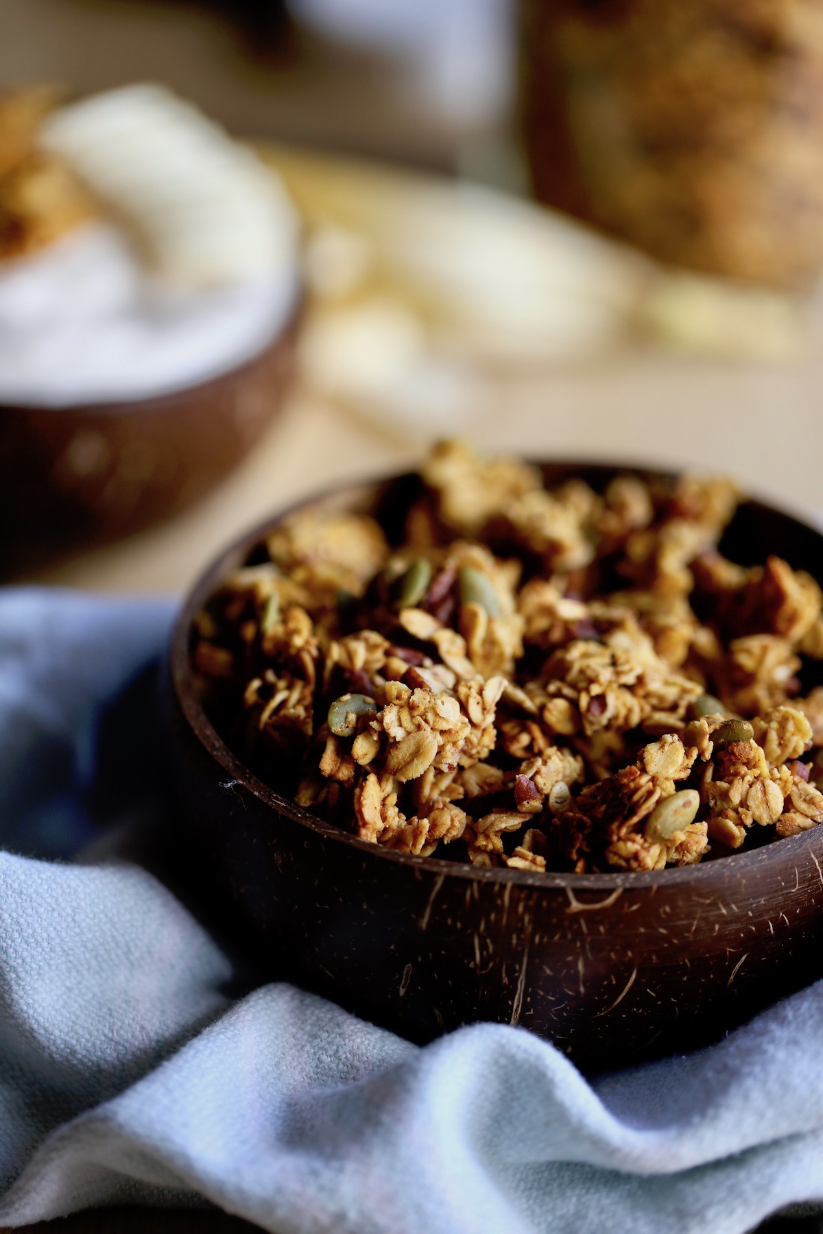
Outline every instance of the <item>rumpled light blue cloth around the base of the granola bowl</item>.
{"label": "rumpled light blue cloth around the base of the granola bowl", "polygon": [[[139,676],[169,619],[0,592],[9,845],[151,814]],[[0,853],[0,1225],[205,1198],[280,1234],[743,1234],[823,1198],[819,985],[592,1085],[522,1029],[420,1049],[289,986],[232,1002],[231,975],[139,866]]]}

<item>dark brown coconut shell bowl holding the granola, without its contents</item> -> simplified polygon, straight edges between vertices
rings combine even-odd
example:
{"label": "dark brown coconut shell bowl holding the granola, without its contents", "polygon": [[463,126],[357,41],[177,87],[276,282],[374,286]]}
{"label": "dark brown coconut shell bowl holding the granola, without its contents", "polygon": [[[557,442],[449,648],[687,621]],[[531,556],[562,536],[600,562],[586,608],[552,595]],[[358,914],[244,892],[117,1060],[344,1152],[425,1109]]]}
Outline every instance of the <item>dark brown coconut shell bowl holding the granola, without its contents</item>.
{"label": "dark brown coconut shell bowl holding the granola, without its contents", "polygon": [[[602,490],[617,469],[543,470],[549,484],[574,474]],[[320,505],[396,517],[415,484],[352,487]],[[705,1044],[823,974],[823,827],[679,869],[531,874],[379,848],[263,784],[206,716],[189,649],[197,610],[278,521],[197,582],[170,674],[188,861],[263,976],[416,1041],[475,1021],[519,1024],[600,1070]],[[823,536],[760,502],[739,507],[721,547],[743,564],[777,553],[823,581]]]}

